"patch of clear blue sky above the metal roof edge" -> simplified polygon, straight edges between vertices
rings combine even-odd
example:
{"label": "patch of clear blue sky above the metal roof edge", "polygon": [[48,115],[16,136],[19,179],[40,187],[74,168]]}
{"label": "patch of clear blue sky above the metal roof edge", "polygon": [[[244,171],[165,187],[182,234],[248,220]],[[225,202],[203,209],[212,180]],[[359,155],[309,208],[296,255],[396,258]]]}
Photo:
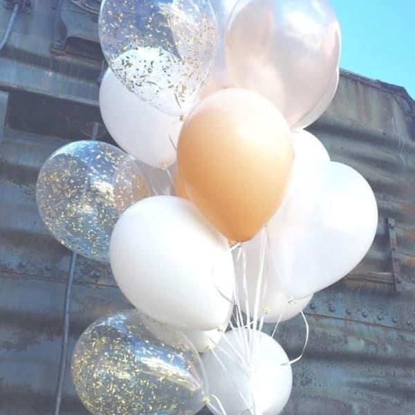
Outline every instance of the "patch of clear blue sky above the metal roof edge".
{"label": "patch of clear blue sky above the metal roof edge", "polygon": [[415,99],[415,0],[331,0],[342,29],[340,67],[404,86]]}

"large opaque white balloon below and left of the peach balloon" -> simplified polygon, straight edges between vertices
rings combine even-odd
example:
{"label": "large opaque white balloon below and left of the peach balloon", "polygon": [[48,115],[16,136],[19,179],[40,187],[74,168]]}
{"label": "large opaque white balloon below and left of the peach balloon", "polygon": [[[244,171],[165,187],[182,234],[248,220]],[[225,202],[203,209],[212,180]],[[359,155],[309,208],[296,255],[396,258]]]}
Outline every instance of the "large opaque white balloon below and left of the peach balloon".
{"label": "large opaque white balloon below and left of the peach balloon", "polygon": [[122,293],[155,320],[196,331],[225,321],[234,269],[227,239],[194,205],[154,196],[127,209],[110,242],[110,263]]}

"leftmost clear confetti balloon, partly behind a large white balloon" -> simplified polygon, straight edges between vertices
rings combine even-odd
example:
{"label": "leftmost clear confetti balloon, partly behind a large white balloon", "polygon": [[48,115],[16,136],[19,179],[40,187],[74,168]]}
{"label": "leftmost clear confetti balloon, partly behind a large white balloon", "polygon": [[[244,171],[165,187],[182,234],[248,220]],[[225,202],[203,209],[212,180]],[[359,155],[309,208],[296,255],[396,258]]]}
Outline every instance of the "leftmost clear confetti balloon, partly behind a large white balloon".
{"label": "leftmost clear confetti balloon, partly behind a large white balloon", "polygon": [[53,236],[98,261],[109,261],[111,232],[122,212],[147,196],[136,160],[100,141],[75,141],[57,149],[36,185],[39,213]]}

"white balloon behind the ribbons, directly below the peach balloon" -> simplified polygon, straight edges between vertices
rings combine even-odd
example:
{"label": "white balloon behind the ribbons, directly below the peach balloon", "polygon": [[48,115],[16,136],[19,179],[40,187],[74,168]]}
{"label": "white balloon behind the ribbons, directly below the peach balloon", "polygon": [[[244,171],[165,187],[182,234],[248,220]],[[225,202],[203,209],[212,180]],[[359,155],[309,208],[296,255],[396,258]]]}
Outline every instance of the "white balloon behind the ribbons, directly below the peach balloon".
{"label": "white balloon behind the ribbons, directly below the peach balloon", "polygon": [[[261,269],[261,242],[263,232],[255,238],[243,244],[246,255],[246,268],[244,271],[243,260],[239,258],[235,264],[235,274],[237,277],[237,293],[241,310],[247,314],[249,310],[250,320],[255,312],[255,300],[257,297],[257,285],[259,283],[259,273]],[[313,295],[308,295],[302,299],[291,301],[278,285],[275,275],[273,261],[270,261],[270,252],[265,251],[264,270],[259,287],[259,307],[257,320],[264,315],[264,322],[275,323],[278,320],[285,322],[300,313],[306,308]],[[244,274],[245,273],[245,274]]]}

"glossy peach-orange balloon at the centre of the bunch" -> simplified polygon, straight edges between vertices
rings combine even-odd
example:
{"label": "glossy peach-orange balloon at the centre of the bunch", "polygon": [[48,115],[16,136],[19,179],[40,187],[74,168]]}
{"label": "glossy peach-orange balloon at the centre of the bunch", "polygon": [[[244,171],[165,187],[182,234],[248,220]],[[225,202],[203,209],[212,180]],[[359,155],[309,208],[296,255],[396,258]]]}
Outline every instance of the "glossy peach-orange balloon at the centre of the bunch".
{"label": "glossy peach-orange balloon at the centre of the bunch", "polygon": [[293,146],[275,105],[245,89],[223,89],[199,102],[178,139],[185,193],[215,228],[247,241],[284,195]]}

